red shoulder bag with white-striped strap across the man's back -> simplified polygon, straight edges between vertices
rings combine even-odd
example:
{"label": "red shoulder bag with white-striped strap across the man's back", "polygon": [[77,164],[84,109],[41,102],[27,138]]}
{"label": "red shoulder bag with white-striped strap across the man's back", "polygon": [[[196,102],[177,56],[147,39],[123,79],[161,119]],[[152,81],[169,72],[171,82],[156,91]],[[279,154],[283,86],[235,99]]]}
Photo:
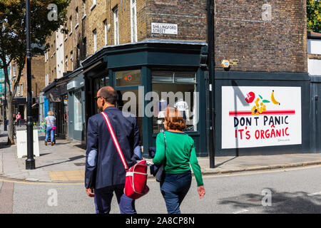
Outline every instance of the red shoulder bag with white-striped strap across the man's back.
{"label": "red shoulder bag with white-striped strap across the man's back", "polygon": [[121,157],[123,167],[126,170],[124,193],[127,197],[130,197],[131,199],[138,199],[143,195],[146,195],[149,191],[149,187],[147,186],[146,160],[141,160],[138,163],[136,163],[136,165],[134,165],[133,167],[128,168],[125,157],[123,156],[123,151],[121,150],[121,146],[118,143],[116,134],[113,132],[113,127],[111,126],[111,122],[108,119],[108,115],[105,112],[102,112],[101,115],[103,115],[103,118],[105,119],[109,133],[111,133],[113,143],[115,144],[119,157]]}

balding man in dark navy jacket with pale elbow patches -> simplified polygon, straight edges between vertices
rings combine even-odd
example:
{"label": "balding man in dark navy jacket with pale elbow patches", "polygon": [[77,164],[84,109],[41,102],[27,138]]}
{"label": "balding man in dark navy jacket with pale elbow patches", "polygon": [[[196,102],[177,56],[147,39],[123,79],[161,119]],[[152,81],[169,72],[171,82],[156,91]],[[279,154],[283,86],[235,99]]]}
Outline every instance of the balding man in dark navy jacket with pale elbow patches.
{"label": "balding man in dark navy jacket with pale elbow patches", "polygon": [[[98,90],[97,106],[108,115],[128,167],[141,159],[141,139],[136,117],[115,107],[117,93],[110,86]],[[122,214],[136,214],[135,201],[123,194],[126,170],[101,113],[88,119],[85,187],[94,197],[96,213],[109,213],[113,192]]]}

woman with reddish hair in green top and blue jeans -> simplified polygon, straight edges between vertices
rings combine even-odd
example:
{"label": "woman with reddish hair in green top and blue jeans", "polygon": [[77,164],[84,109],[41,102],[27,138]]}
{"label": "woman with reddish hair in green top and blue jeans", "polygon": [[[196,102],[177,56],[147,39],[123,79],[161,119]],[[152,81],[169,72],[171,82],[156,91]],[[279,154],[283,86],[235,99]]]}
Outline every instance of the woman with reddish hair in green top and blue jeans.
{"label": "woman with reddish hair in green top and blue jeans", "polygon": [[183,132],[186,128],[183,115],[176,108],[165,110],[165,133],[156,138],[155,165],[165,162],[165,180],[161,182],[161,193],[165,199],[168,214],[180,214],[180,204],[190,189],[193,168],[200,199],[205,188],[200,165],[195,153],[194,140]]}

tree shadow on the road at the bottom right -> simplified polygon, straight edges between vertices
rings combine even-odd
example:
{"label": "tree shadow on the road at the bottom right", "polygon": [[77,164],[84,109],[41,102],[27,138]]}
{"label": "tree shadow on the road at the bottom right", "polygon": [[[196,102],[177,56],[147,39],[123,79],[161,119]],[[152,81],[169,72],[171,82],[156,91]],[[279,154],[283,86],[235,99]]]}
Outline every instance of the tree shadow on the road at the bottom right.
{"label": "tree shadow on the road at the bottom right", "polygon": [[[270,201],[268,195],[245,194],[237,197],[220,199],[220,204],[228,204],[235,209],[249,209],[261,207],[267,214],[320,214],[321,195],[308,196],[308,192],[275,192],[271,191]],[[270,202],[270,206],[268,204]],[[265,204],[266,206],[263,206]],[[251,212],[248,212],[251,213]],[[254,212],[255,213],[255,212]]]}

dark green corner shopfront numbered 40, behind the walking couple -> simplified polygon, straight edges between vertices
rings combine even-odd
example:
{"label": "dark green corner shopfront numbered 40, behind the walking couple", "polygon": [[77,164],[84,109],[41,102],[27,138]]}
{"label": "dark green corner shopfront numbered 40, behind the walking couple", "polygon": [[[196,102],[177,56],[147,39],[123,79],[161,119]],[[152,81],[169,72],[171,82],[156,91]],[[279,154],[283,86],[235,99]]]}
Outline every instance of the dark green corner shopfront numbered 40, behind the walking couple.
{"label": "dark green corner shopfront numbered 40, behind the walking couple", "polygon": [[162,110],[172,101],[189,120],[186,133],[195,140],[197,155],[208,156],[207,49],[203,42],[155,40],[101,48],[82,62],[85,126],[98,113],[94,97],[99,88],[113,86],[118,108],[137,116],[145,156],[163,130]]}

